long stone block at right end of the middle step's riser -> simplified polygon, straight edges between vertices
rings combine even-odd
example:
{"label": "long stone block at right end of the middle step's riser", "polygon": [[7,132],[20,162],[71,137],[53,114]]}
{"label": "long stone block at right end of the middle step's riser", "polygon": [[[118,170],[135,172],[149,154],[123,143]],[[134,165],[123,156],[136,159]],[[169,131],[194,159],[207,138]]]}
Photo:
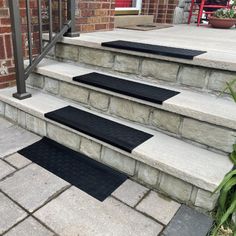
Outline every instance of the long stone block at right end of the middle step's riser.
{"label": "long stone block at right end of the middle step's riser", "polygon": [[182,136],[210,147],[231,152],[235,143],[236,132],[185,118],[182,127]]}

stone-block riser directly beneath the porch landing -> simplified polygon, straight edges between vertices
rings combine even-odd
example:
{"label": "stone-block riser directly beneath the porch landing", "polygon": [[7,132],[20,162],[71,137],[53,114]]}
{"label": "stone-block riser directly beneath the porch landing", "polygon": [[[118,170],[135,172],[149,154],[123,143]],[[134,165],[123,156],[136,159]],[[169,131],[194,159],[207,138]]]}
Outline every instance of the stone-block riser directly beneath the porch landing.
{"label": "stone-block riser directly beneath the porch landing", "polygon": [[51,56],[107,72],[127,74],[141,81],[176,85],[204,93],[219,94],[225,83],[236,77],[232,68],[214,65],[213,62],[165,58],[97,45],[92,48],[59,43]]}

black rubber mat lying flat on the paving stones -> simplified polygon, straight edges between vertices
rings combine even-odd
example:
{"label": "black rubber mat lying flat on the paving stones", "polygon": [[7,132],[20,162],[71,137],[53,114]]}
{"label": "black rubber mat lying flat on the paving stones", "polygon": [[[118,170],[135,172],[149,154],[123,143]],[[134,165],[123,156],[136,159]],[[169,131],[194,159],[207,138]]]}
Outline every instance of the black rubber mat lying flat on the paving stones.
{"label": "black rubber mat lying flat on the paving stones", "polygon": [[19,153],[100,201],[127,179],[126,175],[48,138]]}

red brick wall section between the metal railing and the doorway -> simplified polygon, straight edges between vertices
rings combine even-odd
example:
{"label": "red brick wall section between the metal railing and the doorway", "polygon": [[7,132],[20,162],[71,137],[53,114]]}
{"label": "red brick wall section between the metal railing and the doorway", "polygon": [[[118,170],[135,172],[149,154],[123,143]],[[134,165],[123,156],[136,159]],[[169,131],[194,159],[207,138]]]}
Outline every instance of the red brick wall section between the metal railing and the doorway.
{"label": "red brick wall section between the metal railing and the doorway", "polygon": [[76,28],[80,32],[114,28],[115,0],[77,0]]}

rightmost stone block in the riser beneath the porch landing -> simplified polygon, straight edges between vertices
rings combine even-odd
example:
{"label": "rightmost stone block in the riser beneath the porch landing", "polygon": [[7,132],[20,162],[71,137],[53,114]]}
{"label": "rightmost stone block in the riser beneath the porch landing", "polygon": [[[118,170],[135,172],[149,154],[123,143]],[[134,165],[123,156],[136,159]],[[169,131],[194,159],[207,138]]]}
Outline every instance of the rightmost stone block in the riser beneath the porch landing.
{"label": "rightmost stone block in the riser beneath the porch landing", "polygon": [[[235,72],[212,71],[209,78],[208,88],[222,92],[226,87],[226,82],[233,81],[235,78]],[[234,89],[236,89],[236,83],[234,84]],[[229,91],[226,92],[229,93]]]}

